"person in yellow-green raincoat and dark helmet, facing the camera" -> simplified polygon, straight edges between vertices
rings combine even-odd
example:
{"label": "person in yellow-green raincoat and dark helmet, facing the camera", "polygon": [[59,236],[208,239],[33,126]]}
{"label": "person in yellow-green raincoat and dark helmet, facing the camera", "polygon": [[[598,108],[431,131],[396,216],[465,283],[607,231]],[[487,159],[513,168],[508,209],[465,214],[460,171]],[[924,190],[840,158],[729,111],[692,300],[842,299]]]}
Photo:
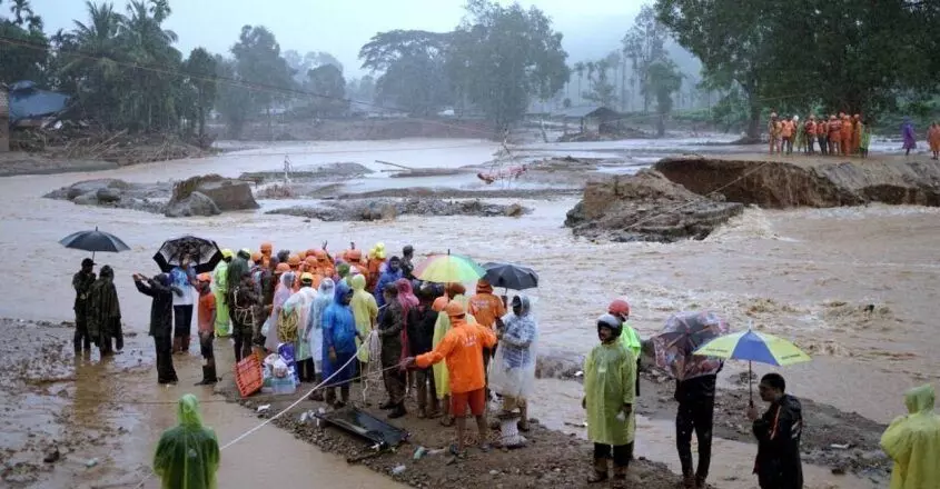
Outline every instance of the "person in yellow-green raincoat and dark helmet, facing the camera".
{"label": "person in yellow-green raincoat and dark helmet, facing the camera", "polygon": [[587,439],[594,442],[591,483],[607,480],[607,460],[614,460],[614,479],[626,479],[636,430],[633,412],[636,359],[620,341],[623,322],[613,315],[597,318],[597,337],[584,360],[584,399]]}

